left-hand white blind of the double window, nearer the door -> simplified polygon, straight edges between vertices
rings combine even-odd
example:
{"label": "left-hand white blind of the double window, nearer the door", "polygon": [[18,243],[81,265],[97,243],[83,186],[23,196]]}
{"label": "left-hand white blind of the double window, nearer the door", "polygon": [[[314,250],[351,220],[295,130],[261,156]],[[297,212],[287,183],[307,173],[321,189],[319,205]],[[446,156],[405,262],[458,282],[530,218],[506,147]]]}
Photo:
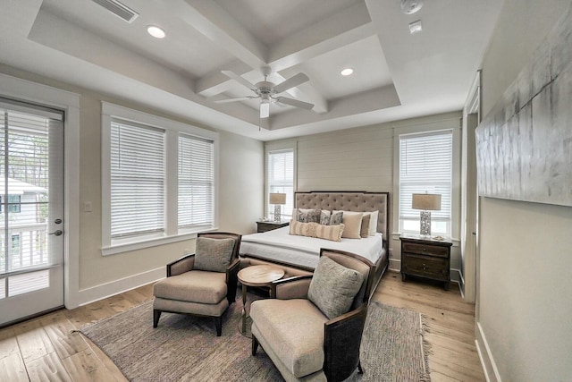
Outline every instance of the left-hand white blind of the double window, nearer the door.
{"label": "left-hand white blind of the double window, nearer the door", "polygon": [[164,131],[111,123],[111,237],[164,232]]}

